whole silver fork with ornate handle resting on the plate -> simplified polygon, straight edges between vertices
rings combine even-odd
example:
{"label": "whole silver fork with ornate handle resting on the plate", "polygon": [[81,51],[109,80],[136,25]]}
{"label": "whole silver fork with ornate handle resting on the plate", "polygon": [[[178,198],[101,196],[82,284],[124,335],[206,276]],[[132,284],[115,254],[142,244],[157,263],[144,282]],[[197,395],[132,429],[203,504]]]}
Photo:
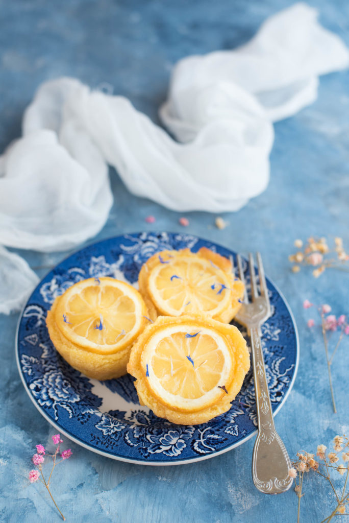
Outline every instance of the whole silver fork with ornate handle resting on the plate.
{"label": "whole silver fork with ornate handle resting on the plate", "polygon": [[[243,283],[241,256],[237,255],[239,276]],[[245,298],[235,320],[247,328],[251,338],[253,378],[258,416],[258,435],[253,447],[252,479],[259,491],[266,494],[280,494],[292,485],[293,479],[288,475],[292,467],[285,446],[274,426],[273,411],[266,381],[264,359],[261,345],[261,325],[270,317],[271,309],[266,287],[262,257],[257,253],[260,294],[254,272],[253,256],[249,254],[251,279],[251,298],[245,287]]]}

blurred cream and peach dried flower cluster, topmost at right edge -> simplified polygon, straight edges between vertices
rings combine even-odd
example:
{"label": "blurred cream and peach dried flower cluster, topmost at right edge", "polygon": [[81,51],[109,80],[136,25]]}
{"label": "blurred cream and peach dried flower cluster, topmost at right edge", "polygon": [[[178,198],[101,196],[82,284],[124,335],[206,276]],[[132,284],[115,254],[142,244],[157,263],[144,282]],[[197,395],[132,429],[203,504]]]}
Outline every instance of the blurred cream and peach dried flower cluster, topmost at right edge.
{"label": "blurred cream and peach dried flower cluster, topmost at right edge", "polygon": [[329,248],[326,238],[308,238],[305,245],[302,240],[295,240],[294,246],[299,249],[288,256],[293,264],[292,272],[299,272],[301,266],[314,267],[312,274],[318,278],[325,269],[337,268],[349,270],[349,254],[344,251],[342,238],[334,238],[334,246]]}

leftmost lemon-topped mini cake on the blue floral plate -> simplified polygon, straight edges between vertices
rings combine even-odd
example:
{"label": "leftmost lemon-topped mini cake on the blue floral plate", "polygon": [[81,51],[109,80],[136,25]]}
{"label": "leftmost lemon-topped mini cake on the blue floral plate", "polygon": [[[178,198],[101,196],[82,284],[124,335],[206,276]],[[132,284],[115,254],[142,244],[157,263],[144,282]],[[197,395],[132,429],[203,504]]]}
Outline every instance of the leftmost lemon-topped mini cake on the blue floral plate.
{"label": "leftmost lemon-topped mini cake on the blue floral plate", "polygon": [[148,323],[141,294],[110,277],[78,281],[56,298],[46,323],[53,344],[90,378],[126,373],[131,346]]}

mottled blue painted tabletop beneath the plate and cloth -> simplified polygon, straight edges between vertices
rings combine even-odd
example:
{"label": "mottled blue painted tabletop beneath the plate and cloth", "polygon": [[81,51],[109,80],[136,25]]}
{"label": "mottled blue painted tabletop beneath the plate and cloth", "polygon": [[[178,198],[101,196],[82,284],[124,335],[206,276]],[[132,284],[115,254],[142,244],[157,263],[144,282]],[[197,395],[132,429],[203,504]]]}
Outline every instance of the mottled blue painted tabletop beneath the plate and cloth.
{"label": "mottled blue painted tabletop beneath the plate and cloth", "polygon": [[[322,24],[349,45],[349,4],[310,2]],[[20,134],[22,111],[37,86],[48,78],[76,76],[91,86],[107,82],[114,93],[157,121],[172,65],[182,56],[227,49],[246,42],[260,23],[291,2],[111,2],[100,0],[0,1],[0,148]],[[289,301],[300,334],[300,365],[292,393],[276,416],[291,455],[328,445],[349,433],[347,406],[348,342],[332,372],[338,414],[333,414],[320,334],[306,327],[305,298],[330,303],[334,314],[349,313],[349,274],[328,270],[315,280],[310,271],[289,271],[295,238],[342,236],[349,245],[349,73],[321,78],[315,104],[278,122],[271,155],[271,181],[260,197],[238,213],[226,213],[229,226],[214,227],[214,216],[187,213],[185,232],[237,252],[260,250],[267,274]],[[181,231],[180,215],[130,195],[111,172],[114,206],[96,240],[139,230]],[[154,214],[156,223],[144,218]],[[95,238],[94,238],[95,239]],[[90,241],[88,243],[91,243]],[[43,277],[67,253],[22,251]],[[39,484],[27,480],[34,445],[48,445],[55,433],[32,405],[15,362],[18,315],[0,317],[0,520],[59,521]],[[66,441],[65,443],[68,444]],[[251,480],[253,440],[216,458],[179,467],[144,467],[99,457],[75,444],[74,456],[57,468],[53,491],[71,522],[279,523],[296,520],[294,492],[269,497]],[[333,505],[323,483],[306,485],[303,521],[316,523]]]}

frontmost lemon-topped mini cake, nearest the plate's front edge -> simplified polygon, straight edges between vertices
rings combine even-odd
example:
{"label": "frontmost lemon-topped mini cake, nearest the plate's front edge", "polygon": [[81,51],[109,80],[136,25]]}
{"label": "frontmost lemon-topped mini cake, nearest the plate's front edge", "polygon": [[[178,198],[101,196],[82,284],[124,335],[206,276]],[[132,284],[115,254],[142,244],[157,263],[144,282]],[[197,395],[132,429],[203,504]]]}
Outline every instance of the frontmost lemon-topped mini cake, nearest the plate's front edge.
{"label": "frontmost lemon-topped mini cake, nearest the plate's front edge", "polygon": [[133,346],[127,371],[139,401],[180,424],[229,410],[250,367],[246,340],[205,314],[160,316]]}

